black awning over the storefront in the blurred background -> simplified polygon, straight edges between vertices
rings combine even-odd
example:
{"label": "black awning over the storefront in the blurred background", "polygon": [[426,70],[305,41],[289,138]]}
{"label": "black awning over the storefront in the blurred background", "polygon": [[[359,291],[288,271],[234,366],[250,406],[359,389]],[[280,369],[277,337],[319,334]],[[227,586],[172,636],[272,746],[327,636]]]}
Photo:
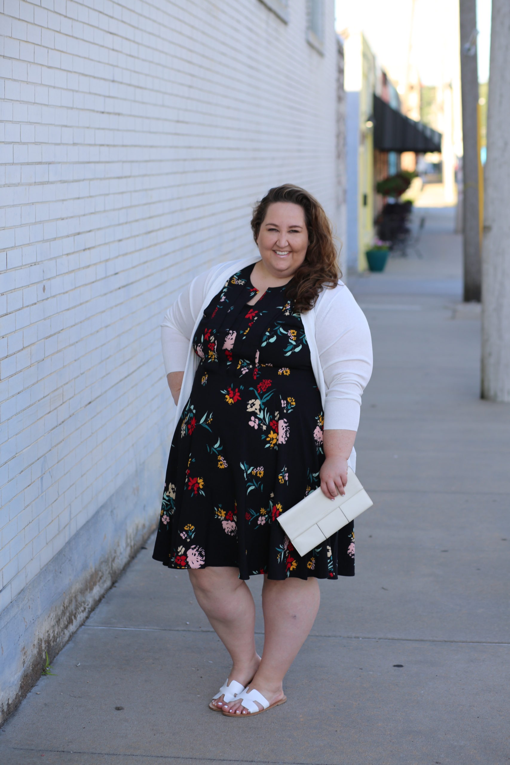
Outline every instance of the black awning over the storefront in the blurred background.
{"label": "black awning over the storefront in the blurred background", "polygon": [[441,134],[415,122],[374,96],[374,148],[379,151],[441,151]]}

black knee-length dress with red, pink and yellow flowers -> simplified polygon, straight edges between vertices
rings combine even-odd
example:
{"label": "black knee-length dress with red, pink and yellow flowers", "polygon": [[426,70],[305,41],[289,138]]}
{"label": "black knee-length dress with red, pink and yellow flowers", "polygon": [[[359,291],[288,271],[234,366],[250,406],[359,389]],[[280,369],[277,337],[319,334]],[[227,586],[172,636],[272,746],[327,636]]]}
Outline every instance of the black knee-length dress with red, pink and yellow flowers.
{"label": "black knee-length dress with red, pink and yellow flowers", "polygon": [[153,558],[235,566],[239,577],[354,575],[353,524],[303,557],[277,518],[320,485],[323,410],[300,314],[285,288],[253,306],[252,265],[210,302],[200,364],[168,457]]}

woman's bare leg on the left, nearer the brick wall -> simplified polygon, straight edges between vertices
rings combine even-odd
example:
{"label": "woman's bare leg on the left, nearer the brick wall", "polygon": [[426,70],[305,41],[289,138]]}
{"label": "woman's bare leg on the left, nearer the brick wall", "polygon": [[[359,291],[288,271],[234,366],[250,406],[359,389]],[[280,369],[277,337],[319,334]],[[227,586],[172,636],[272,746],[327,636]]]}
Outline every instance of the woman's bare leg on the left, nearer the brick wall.
{"label": "woman's bare leg on the left, nearer the brick wall", "polygon": [[[255,603],[239,569],[207,566],[190,569],[190,581],[200,608],[232,658],[229,680],[246,685],[260,662],[255,650]],[[213,704],[222,708],[223,695]]]}

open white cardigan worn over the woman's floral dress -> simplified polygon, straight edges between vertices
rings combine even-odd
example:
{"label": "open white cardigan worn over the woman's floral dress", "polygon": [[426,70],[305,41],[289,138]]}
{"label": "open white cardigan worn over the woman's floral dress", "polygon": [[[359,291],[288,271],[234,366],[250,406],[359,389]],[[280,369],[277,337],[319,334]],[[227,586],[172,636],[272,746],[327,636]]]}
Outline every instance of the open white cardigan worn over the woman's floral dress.
{"label": "open white cardigan worn over the woman's floral dress", "polygon": [[[180,372],[180,389],[174,428],[190,397],[195,371],[200,362],[192,340],[210,304],[226,280],[260,256],[214,265],[200,274],[180,293],[161,324],[161,345],[165,372]],[[343,282],[323,289],[311,311],[301,313],[307,336],[313,374],[324,410],[324,429],[357,431],[361,396],[372,374],[372,340],[361,308]],[[352,450],[349,464],[356,467]]]}

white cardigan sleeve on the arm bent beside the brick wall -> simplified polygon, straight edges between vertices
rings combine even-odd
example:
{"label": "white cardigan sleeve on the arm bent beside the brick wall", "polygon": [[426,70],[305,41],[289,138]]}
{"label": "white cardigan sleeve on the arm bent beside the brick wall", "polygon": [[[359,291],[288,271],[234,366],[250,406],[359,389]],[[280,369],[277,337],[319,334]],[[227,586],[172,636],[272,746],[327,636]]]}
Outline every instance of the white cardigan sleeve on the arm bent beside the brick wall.
{"label": "white cardigan sleeve on the arm bent beside the brick wall", "polygon": [[210,269],[193,279],[164,314],[161,324],[161,350],[165,374],[184,372],[190,340],[205,299]]}

